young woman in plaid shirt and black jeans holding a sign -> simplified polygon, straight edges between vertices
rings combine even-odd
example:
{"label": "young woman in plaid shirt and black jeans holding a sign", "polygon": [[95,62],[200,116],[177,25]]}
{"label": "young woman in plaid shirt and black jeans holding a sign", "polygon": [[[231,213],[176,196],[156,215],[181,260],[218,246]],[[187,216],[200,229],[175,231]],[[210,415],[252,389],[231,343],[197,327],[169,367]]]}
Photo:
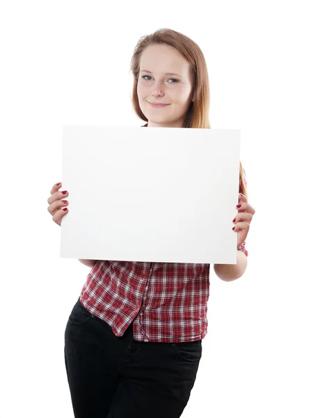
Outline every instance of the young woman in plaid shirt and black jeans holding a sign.
{"label": "young woman in plaid shirt and black jeans holding a sign", "polygon": [[[145,127],[210,128],[204,56],[190,38],[161,29],[138,41],[132,102]],[[242,194],[240,194],[240,192]],[[54,185],[49,212],[61,225],[67,191]],[[254,208],[240,164],[234,210],[237,263],[245,272]],[[65,366],[76,418],[178,418],[195,383],[207,334],[209,264],[80,260],[92,267],[65,330]]]}

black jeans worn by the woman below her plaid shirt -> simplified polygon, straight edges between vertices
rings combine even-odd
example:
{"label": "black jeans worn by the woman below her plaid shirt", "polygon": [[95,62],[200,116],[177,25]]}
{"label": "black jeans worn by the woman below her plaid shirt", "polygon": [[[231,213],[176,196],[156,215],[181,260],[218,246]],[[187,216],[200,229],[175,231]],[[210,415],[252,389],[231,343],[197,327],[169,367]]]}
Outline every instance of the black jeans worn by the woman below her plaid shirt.
{"label": "black jeans worn by the woman below her plaid shirt", "polygon": [[78,300],[64,353],[75,418],[178,418],[195,382],[202,340],[135,341],[132,324],[117,337]]}

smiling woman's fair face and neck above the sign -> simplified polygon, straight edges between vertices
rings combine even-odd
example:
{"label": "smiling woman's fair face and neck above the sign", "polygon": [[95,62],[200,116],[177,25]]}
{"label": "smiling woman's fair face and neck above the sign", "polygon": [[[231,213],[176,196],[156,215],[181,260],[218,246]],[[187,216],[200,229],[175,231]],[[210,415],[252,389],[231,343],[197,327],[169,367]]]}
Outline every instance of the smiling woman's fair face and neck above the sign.
{"label": "smiling woman's fair face and neck above the sign", "polygon": [[[169,45],[150,45],[145,49],[137,94],[149,127],[182,127],[191,104],[192,88],[189,63],[177,49]],[[167,106],[153,107],[151,103]]]}

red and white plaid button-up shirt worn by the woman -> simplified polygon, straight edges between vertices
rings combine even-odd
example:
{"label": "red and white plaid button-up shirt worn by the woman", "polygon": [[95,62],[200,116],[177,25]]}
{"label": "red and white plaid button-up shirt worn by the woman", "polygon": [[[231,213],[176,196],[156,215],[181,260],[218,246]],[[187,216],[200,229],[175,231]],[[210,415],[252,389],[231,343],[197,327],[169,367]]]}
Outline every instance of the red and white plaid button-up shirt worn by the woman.
{"label": "red and white plaid button-up shirt worn by the woman", "polygon": [[[244,170],[243,174],[247,184]],[[248,256],[245,244],[239,249]],[[122,336],[134,322],[136,341],[196,341],[207,335],[209,273],[207,263],[98,260],[83,285],[80,301],[108,323],[116,336]]]}

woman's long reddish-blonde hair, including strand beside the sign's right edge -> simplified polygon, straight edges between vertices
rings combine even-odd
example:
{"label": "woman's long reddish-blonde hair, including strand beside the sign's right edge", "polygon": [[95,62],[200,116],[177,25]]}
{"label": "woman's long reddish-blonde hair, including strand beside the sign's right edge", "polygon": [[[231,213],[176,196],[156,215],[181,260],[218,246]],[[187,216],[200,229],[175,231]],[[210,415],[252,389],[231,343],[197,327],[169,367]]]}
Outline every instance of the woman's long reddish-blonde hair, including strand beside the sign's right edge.
{"label": "woman's long reddish-blonde hair, including strand beside the sign's right edge", "polygon": [[[193,102],[191,102],[182,127],[197,127],[211,129],[209,121],[209,75],[207,72],[207,63],[200,47],[188,36],[183,35],[172,29],[159,29],[150,35],[142,36],[134,49],[134,54],[131,57],[130,71],[134,75],[133,91],[131,95],[131,102],[133,109],[143,121],[147,122],[146,116],[141,111],[139,105],[137,86],[138,77],[141,64],[141,55],[145,48],[150,45],[163,44],[175,47],[177,51],[188,61],[191,74],[193,78]],[[246,173],[239,162],[239,192],[242,192],[248,197],[246,189]]]}

